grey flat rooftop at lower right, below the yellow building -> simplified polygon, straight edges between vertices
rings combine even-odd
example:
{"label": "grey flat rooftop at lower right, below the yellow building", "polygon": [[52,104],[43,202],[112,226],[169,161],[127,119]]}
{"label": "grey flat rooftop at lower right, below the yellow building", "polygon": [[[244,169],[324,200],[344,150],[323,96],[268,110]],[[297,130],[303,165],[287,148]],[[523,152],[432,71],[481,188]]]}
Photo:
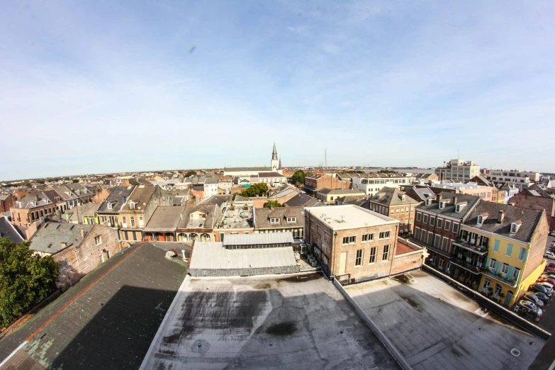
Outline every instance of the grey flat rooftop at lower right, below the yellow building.
{"label": "grey flat rooftop at lower right, below the yellow building", "polygon": [[545,343],[424,271],[345,290],[415,370],[527,369]]}

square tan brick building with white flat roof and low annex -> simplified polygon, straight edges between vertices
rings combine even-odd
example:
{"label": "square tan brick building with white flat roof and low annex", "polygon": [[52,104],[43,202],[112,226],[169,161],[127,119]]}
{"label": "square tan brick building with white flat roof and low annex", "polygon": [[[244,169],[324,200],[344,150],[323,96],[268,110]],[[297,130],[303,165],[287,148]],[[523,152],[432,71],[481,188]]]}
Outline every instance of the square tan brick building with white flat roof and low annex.
{"label": "square tan brick building with white flat roof and low annex", "polygon": [[342,283],[420,267],[422,250],[398,242],[399,221],[359,206],[305,208],[305,240],[324,273]]}

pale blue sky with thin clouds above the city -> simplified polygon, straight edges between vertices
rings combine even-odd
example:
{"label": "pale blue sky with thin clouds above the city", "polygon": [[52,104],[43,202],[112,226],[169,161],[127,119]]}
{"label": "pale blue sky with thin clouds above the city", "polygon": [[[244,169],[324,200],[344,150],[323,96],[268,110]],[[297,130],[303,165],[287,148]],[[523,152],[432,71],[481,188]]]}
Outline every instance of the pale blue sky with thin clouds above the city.
{"label": "pale blue sky with thin clouds above the city", "polygon": [[[554,1],[4,1],[0,179],[555,172]],[[191,50],[192,49],[192,50]]]}

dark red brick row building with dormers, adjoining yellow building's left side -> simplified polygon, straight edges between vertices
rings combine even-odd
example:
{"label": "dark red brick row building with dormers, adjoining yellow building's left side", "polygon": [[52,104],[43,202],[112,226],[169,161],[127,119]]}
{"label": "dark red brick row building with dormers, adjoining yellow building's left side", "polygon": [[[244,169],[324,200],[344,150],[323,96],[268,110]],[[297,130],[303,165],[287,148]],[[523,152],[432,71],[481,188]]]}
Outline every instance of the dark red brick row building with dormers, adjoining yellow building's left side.
{"label": "dark red brick row building with dormers, adjoining yellow building's left side", "polygon": [[446,271],[464,223],[480,198],[464,194],[442,192],[427,198],[416,207],[413,239],[429,252],[425,263],[439,271]]}

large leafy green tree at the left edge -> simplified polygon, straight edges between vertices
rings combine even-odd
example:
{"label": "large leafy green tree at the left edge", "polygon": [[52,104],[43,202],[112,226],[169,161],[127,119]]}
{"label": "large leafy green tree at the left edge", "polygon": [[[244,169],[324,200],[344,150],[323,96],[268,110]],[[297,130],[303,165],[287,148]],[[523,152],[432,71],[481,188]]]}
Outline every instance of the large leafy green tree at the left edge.
{"label": "large leafy green tree at the left edge", "polygon": [[29,245],[0,239],[0,327],[21,317],[56,288],[60,264],[50,256],[34,255]]}

